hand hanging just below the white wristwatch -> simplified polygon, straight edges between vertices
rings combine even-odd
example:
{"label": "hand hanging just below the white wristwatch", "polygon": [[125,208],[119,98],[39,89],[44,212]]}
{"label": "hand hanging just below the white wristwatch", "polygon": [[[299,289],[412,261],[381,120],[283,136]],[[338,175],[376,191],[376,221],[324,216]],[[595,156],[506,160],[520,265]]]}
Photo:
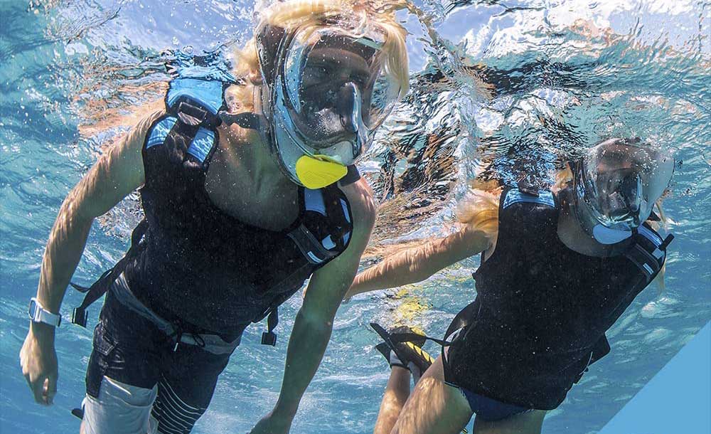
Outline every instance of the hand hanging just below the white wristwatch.
{"label": "hand hanging just below the white wristwatch", "polygon": [[57,353],[54,349],[54,327],[31,323],[20,350],[20,366],[35,401],[50,406],[57,393]]}

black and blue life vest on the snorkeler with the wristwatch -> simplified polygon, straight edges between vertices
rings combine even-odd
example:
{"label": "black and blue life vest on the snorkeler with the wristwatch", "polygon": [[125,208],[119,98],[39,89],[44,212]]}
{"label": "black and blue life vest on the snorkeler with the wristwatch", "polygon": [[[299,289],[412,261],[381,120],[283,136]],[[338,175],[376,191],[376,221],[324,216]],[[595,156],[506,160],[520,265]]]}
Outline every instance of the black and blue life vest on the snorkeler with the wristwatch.
{"label": "black and blue life vest on the snorkeler with the wristwatch", "polygon": [[[353,222],[336,184],[299,187],[299,217],[283,231],[242,223],[210,201],[205,175],[219,143],[225,87],[194,78],[171,81],[166,115],[154,122],[144,142],[144,220],[114,268],[91,288],[75,286],[89,293],[73,322],[85,325],[88,305],[123,272],[141,302],[186,331],[232,340],[231,330],[269,316],[262,343],[274,344],[277,307],[346,250]],[[246,114],[240,122],[255,127],[257,121]],[[353,166],[341,184],[357,179]]]}

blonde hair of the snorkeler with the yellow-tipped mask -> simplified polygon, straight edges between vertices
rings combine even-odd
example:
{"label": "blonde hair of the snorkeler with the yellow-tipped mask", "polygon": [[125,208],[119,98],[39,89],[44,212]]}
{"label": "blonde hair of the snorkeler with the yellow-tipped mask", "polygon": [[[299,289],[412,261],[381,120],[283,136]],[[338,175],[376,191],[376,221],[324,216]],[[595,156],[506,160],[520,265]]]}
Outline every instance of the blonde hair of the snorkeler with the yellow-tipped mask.
{"label": "blonde hair of the snorkeler with the yellow-tipped mask", "polygon": [[[286,31],[304,28],[309,34],[327,23],[338,21],[351,23],[354,19],[362,23],[375,24],[385,35],[382,51],[385,54],[383,68],[400,85],[400,97],[405,96],[410,86],[409,62],[405,37],[407,31],[395,20],[395,11],[403,9],[401,1],[378,5],[373,1],[355,0],[290,0],[277,2],[264,9],[260,23],[279,26]],[[261,85],[259,56],[255,38],[233,53],[232,73],[245,83]],[[251,95],[250,95],[251,97]]]}

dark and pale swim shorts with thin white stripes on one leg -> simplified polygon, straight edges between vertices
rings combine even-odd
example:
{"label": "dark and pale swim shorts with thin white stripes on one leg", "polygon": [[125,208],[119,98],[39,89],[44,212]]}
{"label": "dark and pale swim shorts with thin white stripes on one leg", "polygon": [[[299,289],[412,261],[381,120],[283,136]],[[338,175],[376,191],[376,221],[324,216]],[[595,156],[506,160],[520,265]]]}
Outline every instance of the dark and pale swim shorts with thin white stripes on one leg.
{"label": "dark and pale swim shorts with thin white stripes on one leg", "polygon": [[94,330],[85,433],[190,433],[239,342],[239,337],[225,342],[215,334],[176,332],[141,305],[119,277]]}

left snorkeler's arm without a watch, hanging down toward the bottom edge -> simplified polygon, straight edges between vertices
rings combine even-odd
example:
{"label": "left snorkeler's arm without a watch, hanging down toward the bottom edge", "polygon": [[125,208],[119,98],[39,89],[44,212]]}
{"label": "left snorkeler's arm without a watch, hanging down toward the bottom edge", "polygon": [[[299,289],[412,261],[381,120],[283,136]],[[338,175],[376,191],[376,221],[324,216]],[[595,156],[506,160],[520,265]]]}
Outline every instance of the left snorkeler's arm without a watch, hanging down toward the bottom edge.
{"label": "left snorkeler's arm without a watch, hanging down toward the bottom edge", "polygon": [[284,380],[274,411],[260,420],[252,434],[287,433],[301,396],[316,374],[331,338],[333,317],[358,271],[360,255],[375,223],[375,205],[368,184],[360,180],[343,188],[353,211],[351,243],[338,258],[316,271],[309,282],[304,304],[296,314],[289,338]]}

